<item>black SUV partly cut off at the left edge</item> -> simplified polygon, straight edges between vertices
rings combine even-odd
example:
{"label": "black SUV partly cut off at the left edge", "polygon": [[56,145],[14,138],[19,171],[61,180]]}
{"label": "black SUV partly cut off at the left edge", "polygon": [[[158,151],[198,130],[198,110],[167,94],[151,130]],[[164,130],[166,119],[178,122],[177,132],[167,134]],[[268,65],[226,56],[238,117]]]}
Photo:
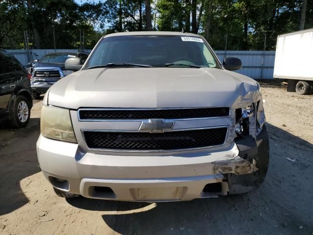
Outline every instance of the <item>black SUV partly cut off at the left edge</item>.
{"label": "black SUV partly cut off at the left edge", "polygon": [[33,105],[29,80],[22,64],[0,50],[0,122],[9,118],[14,127],[27,125]]}

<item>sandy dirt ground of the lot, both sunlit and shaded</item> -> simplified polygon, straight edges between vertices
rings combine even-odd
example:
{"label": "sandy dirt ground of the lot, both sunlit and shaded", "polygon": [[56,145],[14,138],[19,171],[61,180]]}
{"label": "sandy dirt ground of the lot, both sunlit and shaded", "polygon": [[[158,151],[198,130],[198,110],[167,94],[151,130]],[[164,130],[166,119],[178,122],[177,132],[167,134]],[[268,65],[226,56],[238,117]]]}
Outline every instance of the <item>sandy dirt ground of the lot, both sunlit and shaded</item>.
{"label": "sandy dirt ground of the lot, both sunlit and shaded", "polygon": [[261,85],[270,137],[264,184],[244,195],[189,202],[57,197],[37,161],[37,101],[27,128],[0,126],[0,234],[313,235],[313,95]]}

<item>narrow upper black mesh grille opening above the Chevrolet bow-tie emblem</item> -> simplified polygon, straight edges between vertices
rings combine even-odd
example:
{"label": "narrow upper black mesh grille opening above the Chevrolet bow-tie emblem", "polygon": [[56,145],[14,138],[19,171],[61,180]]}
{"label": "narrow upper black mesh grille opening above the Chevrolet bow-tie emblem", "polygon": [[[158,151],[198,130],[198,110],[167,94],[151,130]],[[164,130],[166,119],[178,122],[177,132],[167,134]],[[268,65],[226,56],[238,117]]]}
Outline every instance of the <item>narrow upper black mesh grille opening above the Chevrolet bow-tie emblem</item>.
{"label": "narrow upper black mesh grille opening above the Chevrolet bow-tie emblem", "polygon": [[179,118],[212,118],[226,117],[229,115],[229,108],[191,108],[191,109],[82,109],[79,117],[84,119],[179,119]]}

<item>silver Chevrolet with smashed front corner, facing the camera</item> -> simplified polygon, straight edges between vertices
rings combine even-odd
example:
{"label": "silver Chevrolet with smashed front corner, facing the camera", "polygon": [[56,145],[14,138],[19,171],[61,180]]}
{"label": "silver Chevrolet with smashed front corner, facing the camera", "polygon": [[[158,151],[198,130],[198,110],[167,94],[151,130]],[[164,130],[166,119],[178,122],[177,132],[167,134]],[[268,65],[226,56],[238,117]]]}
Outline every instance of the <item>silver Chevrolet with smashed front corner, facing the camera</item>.
{"label": "silver Chevrolet with smashed front corner, facing the camera", "polygon": [[[200,35],[102,37],[45,94],[37,153],[63,197],[183,201],[245,193],[268,169],[259,84]],[[79,71],[78,71],[79,70]]]}

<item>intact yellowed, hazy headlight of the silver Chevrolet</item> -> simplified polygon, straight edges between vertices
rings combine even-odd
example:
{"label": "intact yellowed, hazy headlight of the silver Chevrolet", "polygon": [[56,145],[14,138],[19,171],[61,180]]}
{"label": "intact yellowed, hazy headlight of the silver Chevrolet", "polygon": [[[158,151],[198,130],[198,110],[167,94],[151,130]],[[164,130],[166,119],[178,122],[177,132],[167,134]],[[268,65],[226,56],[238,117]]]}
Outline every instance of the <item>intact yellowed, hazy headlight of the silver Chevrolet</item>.
{"label": "intact yellowed, hazy headlight of the silver Chevrolet", "polygon": [[43,106],[40,129],[41,134],[46,138],[77,143],[67,109]]}

